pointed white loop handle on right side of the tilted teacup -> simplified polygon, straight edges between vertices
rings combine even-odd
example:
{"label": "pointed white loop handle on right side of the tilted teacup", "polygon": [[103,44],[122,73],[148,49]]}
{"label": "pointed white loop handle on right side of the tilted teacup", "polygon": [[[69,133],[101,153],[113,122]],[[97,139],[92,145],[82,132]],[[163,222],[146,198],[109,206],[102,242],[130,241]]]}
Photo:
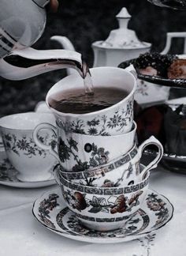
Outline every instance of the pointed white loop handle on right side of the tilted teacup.
{"label": "pointed white loop handle on right side of the tilted teacup", "polygon": [[158,154],[154,158],[154,160],[151,161],[150,164],[148,164],[143,171],[140,173],[140,175],[143,177],[146,175],[147,171],[157,168],[158,162],[162,159],[163,155],[163,147],[160,141],[158,141],[154,136],[149,137],[146,141],[144,141],[141,145],[139,145],[138,152],[139,156],[141,158],[143,150],[148,146],[148,145],[155,145],[158,147]]}

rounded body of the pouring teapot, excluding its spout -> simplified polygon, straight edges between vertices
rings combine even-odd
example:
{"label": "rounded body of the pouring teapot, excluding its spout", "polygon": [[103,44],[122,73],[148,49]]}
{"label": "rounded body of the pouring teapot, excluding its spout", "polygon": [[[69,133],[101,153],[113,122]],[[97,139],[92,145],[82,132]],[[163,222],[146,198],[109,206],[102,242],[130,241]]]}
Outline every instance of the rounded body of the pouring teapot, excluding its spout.
{"label": "rounded body of the pouring teapot, excluding its spout", "polygon": [[49,0],[1,0],[0,58],[14,49],[30,47],[43,34]]}

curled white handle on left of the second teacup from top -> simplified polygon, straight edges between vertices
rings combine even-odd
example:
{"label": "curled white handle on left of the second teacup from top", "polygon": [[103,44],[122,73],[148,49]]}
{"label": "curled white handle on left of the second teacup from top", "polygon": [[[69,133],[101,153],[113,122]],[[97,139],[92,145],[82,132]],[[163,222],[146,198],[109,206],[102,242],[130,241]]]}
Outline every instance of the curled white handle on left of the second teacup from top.
{"label": "curled white handle on left of the second teacup from top", "polygon": [[47,122],[43,122],[43,123],[40,123],[38,126],[35,127],[35,130],[33,131],[33,138],[34,138],[34,141],[35,141],[35,144],[41,148],[41,149],[44,149],[44,150],[47,150],[50,152],[50,154],[52,156],[54,156],[58,161],[59,161],[59,157],[58,157],[58,152],[56,152],[54,149],[52,149],[52,146],[51,145],[46,145],[44,144],[42,141],[39,141],[39,131],[40,130],[52,130],[52,132],[54,133],[55,137],[57,137],[57,129],[55,126],[51,125],[50,123],[47,123]]}

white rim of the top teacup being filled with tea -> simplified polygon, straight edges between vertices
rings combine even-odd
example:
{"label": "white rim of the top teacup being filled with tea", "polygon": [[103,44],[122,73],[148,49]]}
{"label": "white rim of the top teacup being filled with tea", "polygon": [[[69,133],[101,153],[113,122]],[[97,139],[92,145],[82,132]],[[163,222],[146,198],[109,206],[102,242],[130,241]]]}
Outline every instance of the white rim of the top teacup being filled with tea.
{"label": "white rim of the top teacup being filled with tea", "polygon": [[99,115],[99,114],[102,114],[102,112],[104,113],[105,111],[110,111],[110,110],[112,110],[113,108],[117,107],[117,105],[121,104],[122,101],[124,101],[124,100],[125,100],[125,101],[128,101],[129,98],[131,98],[132,95],[134,95],[134,93],[136,92],[136,87],[137,87],[136,78],[135,78],[135,77],[132,75],[132,73],[130,73],[129,71],[124,70],[124,69],[121,69],[121,68],[119,68],[119,67],[113,67],[113,66],[99,66],[99,67],[91,68],[91,69],[90,69],[90,72],[91,72],[91,70],[98,70],[98,69],[99,69],[99,70],[100,70],[100,69],[103,69],[103,70],[108,70],[108,69],[110,69],[110,70],[122,70],[122,72],[128,73],[128,74],[132,77],[132,79],[133,79],[133,81],[134,81],[134,85],[133,85],[132,91],[131,91],[131,92],[128,94],[128,96],[126,96],[123,100],[120,100],[119,102],[117,102],[117,104],[113,104],[112,106],[103,108],[103,109],[101,109],[101,110],[99,110],[99,111],[93,111],[93,112],[84,113],[84,114],[74,114],[74,113],[64,113],[64,112],[60,112],[60,111],[55,110],[53,107],[50,107],[50,104],[48,104],[48,99],[49,99],[49,96],[50,96],[50,91],[52,90],[52,88],[54,88],[54,86],[58,85],[62,80],[67,79],[67,78],[69,78],[69,77],[76,77],[76,76],[78,75],[78,74],[71,74],[71,75],[69,75],[69,76],[67,76],[67,77],[62,78],[60,81],[58,81],[56,84],[54,84],[54,85],[50,88],[50,90],[47,92],[47,96],[46,96],[46,104],[47,104],[47,106],[48,106],[50,109],[52,109],[52,111],[53,111],[55,114],[57,114],[57,115],[63,115],[64,117],[65,117],[65,116],[71,116],[71,117],[73,117],[73,118],[87,117],[87,116],[91,116],[91,115]]}

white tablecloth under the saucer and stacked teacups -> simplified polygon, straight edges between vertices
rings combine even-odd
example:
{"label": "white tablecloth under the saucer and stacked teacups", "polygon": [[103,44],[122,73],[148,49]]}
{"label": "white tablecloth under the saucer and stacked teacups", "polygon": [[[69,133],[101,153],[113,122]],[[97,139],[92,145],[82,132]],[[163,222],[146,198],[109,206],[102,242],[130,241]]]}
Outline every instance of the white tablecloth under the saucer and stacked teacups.
{"label": "white tablecloth under the saucer and stacked teacups", "polygon": [[153,237],[150,234],[127,243],[83,243],[44,228],[32,216],[32,204],[55,187],[16,189],[0,185],[1,256],[186,256],[186,175],[161,168],[151,171],[151,189],[169,198],[174,216]]}

